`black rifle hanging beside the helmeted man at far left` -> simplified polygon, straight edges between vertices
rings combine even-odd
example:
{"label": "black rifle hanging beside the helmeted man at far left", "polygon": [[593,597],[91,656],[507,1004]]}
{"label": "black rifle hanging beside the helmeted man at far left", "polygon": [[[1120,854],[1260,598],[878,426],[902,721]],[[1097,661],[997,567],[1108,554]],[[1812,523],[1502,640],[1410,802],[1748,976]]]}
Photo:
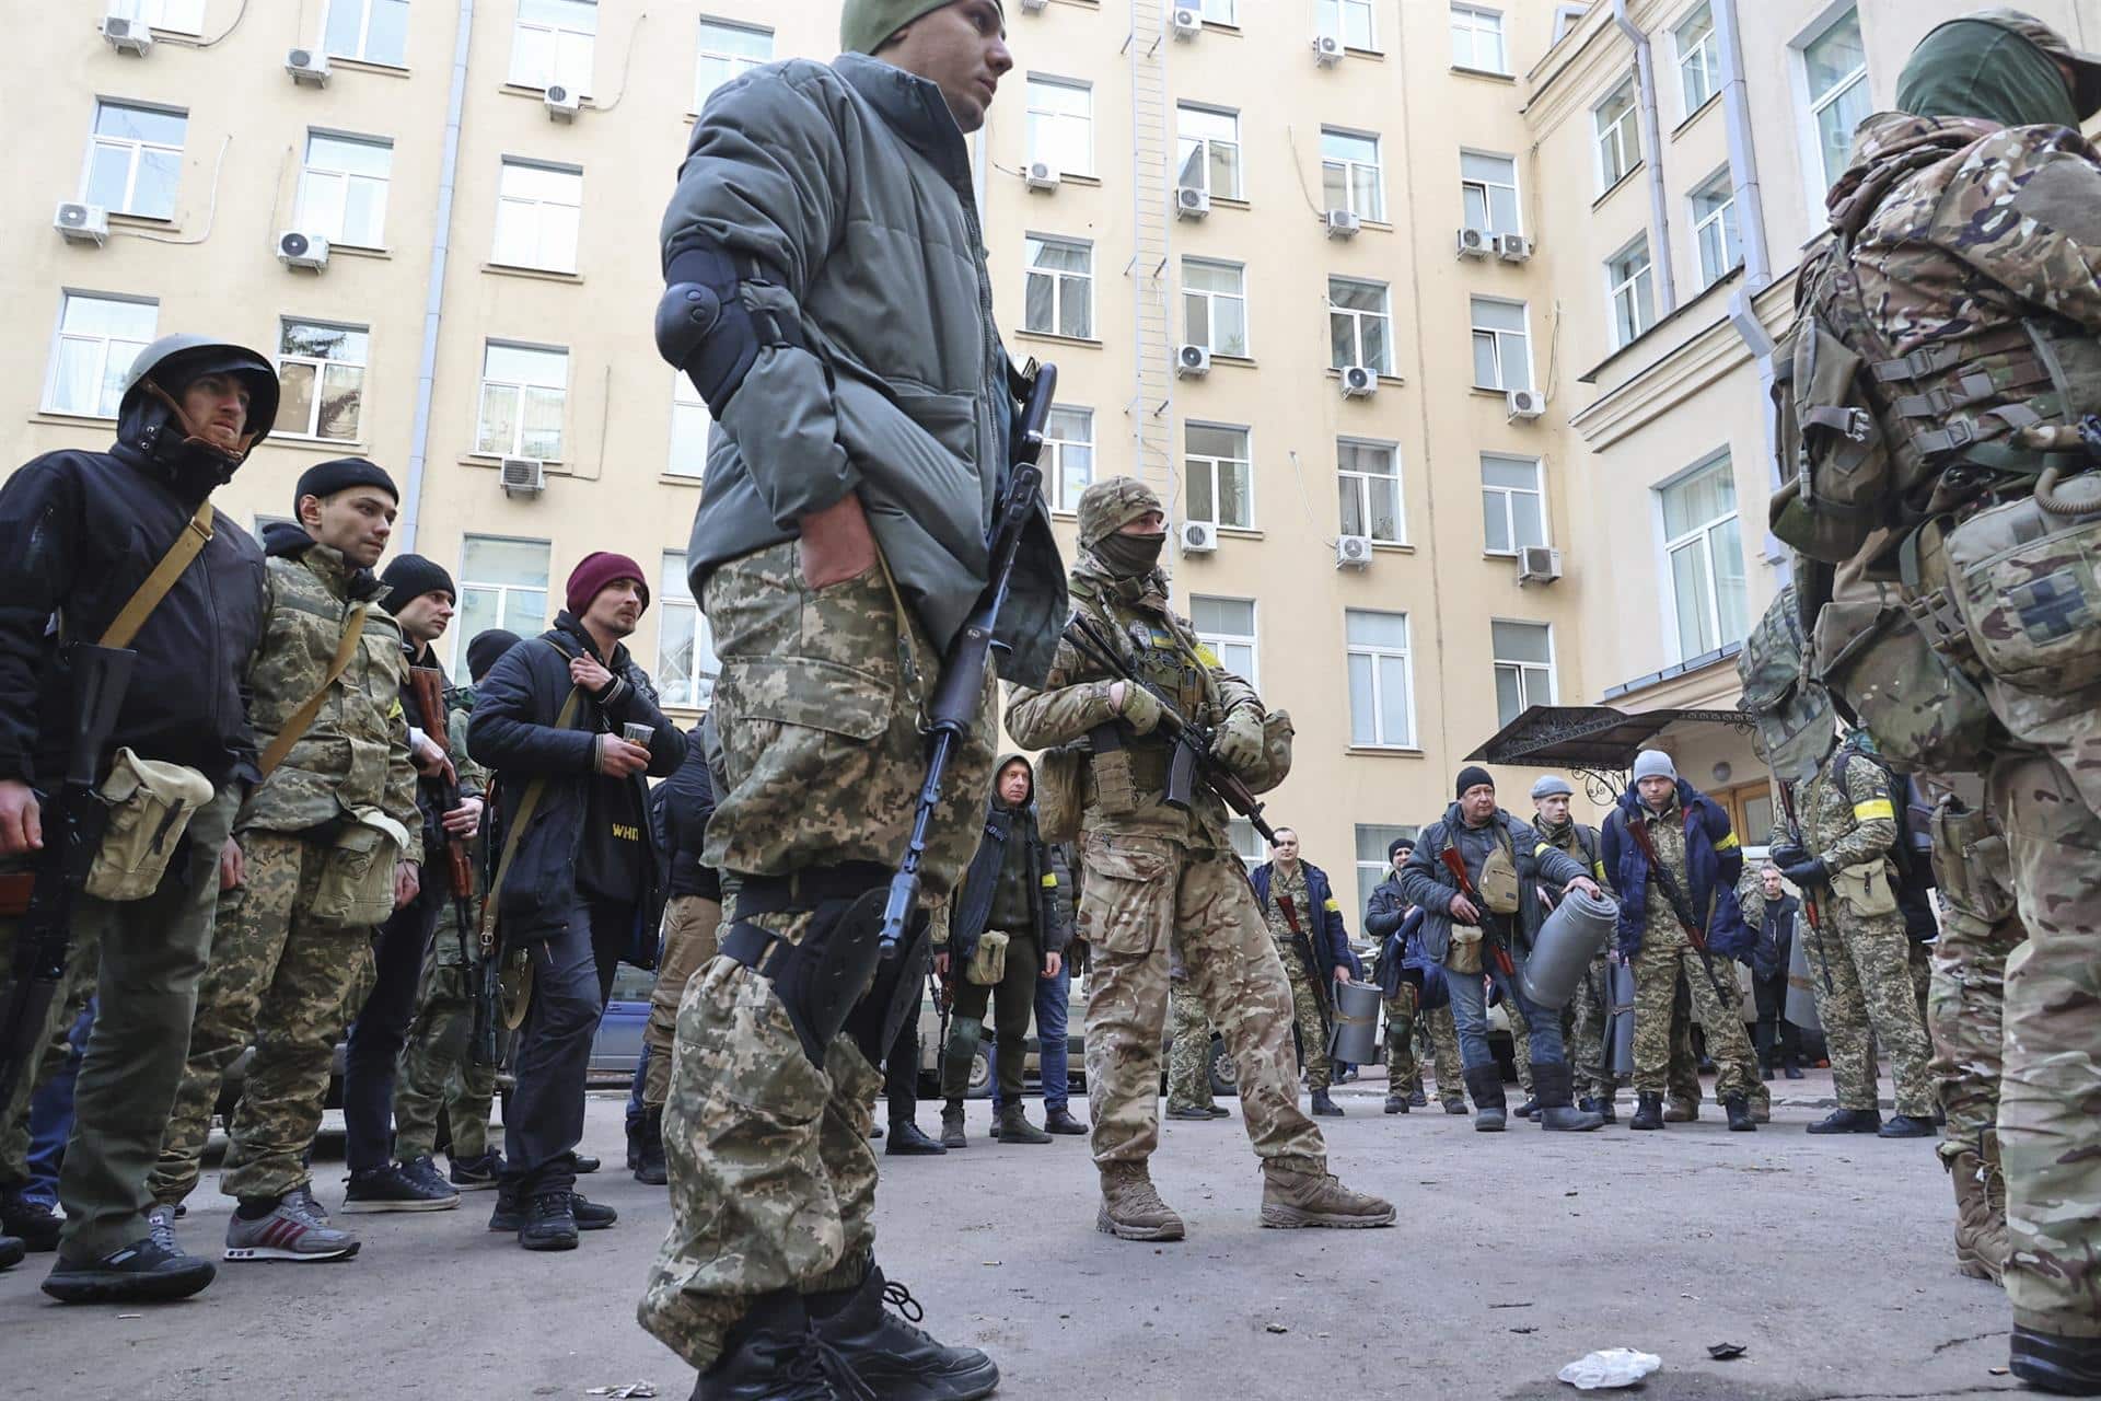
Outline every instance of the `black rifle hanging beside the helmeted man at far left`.
{"label": "black rifle hanging beside the helmeted man at far left", "polygon": [[0,1105],[8,1103],[15,1082],[44,1054],[44,1021],[65,979],[74,937],[74,895],[88,880],[109,821],[109,811],[95,792],[103,773],[103,748],[124,708],[137,657],[128,647],[74,643],[67,649],[78,699],[74,750],[53,804],[57,821],[44,823],[44,859],[29,891],[21,943],[15,947],[15,987],[6,1006],[6,1040],[0,1042]]}

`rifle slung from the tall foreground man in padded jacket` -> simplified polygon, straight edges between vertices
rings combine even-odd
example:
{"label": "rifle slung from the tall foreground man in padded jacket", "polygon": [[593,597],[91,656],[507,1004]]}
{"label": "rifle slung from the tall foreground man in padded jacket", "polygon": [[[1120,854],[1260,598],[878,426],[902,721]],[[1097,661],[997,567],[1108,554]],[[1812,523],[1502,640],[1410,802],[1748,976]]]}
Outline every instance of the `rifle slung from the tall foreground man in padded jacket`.
{"label": "rifle slung from the tall foreground man in padded jacket", "polygon": [[977,702],[985,693],[985,676],[992,670],[992,653],[1008,651],[996,639],[1000,613],[1006,609],[1006,592],[1015,580],[1015,559],[1021,552],[1021,536],[1029,517],[1042,504],[1044,422],[1050,418],[1050,401],[1057,395],[1057,365],[1038,365],[1029,380],[1029,395],[1021,403],[1015,422],[1015,460],[1006,477],[1006,489],[994,504],[992,534],[985,538],[985,588],[977,594],[977,605],[962,620],[962,630],[941,660],[941,678],[935,683],[933,704],[927,708],[927,779],[920,783],[918,804],[912,809],[912,836],[906,842],[906,857],[891,876],[891,893],[882,905],[880,956],[895,958],[903,945],[906,926],[918,907],[920,867],[927,863],[927,830],[933,825],[935,809],[941,807],[941,788],[948,783],[948,765],[971,735],[977,718]]}

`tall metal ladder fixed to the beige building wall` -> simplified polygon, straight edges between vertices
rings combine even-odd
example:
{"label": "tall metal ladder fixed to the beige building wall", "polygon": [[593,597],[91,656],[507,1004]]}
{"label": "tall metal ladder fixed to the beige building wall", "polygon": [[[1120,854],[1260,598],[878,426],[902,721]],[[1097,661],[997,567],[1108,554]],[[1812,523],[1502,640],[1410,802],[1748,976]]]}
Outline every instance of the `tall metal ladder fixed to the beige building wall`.
{"label": "tall metal ladder fixed to the beige building wall", "polygon": [[1132,284],[1132,395],[1130,473],[1181,515],[1181,475],[1174,471],[1174,273],[1170,185],[1174,149],[1166,78],[1166,25],[1162,0],[1130,0],[1130,265]]}

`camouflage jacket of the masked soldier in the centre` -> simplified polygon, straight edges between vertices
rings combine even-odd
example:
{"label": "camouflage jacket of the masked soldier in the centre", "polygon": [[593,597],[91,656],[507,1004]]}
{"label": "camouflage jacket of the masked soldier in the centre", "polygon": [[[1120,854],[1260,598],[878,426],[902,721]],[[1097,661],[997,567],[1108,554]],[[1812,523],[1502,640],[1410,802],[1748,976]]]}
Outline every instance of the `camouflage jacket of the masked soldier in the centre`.
{"label": "camouflage jacket of the masked soldier in the centre", "polygon": [[[1166,576],[1153,571],[1143,580],[1109,578],[1093,557],[1084,555],[1072,569],[1074,613],[1086,618],[1099,634],[1111,641],[1122,660],[1172,699],[1189,720],[1221,723],[1233,710],[1261,697],[1246,681],[1219,666],[1210,647],[1195,639],[1189,620],[1166,603]],[[1139,639],[1145,639],[1143,647]],[[1069,639],[1061,639],[1050,660],[1044,689],[1013,687],[1006,702],[1006,733],[1027,750],[1080,744],[1099,725],[1116,723],[1107,670],[1082,655]],[[1158,836],[1191,849],[1231,851],[1225,802],[1204,783],[1195,786],[1189,811],[1164,802],[1170,744],[1160,731],[1130,735],[1130,775],[1137,804],[1130,811],[1105,811],[1101,786],[1088,767],[1082,786],[1084,811],[1080,830],[1090,834]]]}

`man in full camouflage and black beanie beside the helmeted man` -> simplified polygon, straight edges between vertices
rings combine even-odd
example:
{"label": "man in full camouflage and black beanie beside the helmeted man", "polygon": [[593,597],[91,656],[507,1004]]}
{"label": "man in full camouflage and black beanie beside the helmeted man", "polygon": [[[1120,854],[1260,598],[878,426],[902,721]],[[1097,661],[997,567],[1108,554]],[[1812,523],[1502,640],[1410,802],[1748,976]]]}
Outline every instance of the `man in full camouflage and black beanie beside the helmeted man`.
{"label": "man in full camouflage and black beanie beside the helmeted man", "polygon": [[[347,1000],[370,975],[384,912],[357,924],[342,916],[387,903],[374,897],[382,865],[393,905],[412,901],[422,861],[401,628],[372,576],[399,494],[372,462],[340,458],[309,468],[292,500],[298,525],[263,531],[269,618],[246,674],[267,773],[227,842],[235,884],[219,899],[189,1059],[149,1180],[160,1210],[197,1185],[221,1082],[254,1040],[219,1183],[240,1199],[227,1260],[357,1254],[357,1237],[328,1225],[307,1170]],[[284,748],[279,735],[294,733]]]}

